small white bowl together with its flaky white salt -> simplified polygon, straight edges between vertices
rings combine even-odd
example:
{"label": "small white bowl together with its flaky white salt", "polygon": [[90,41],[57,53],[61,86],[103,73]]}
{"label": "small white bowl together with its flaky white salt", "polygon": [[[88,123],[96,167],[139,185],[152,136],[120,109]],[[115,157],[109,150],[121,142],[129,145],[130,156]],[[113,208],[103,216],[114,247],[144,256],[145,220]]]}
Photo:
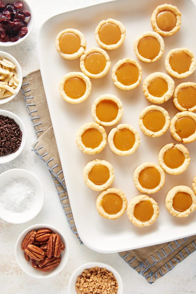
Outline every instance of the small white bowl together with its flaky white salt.
{"label": "small white bowl together with its flaky white salt", "polygon": [[[25,198],[24,195],[23,198],[19,201],[20,195],[17,194],[22,194],[21,190],[18,189],[19,185],[22,183],[22,179],[27,179],[30,182],[30,187],[29,189],[34,188],[35,189],[35,194],[32,196],[33,200],[30,200],[29,203],[29,209],[24,209],[24,211],[19,212],[19,209],[15,208],[14,203],[11,203],[10,201],[5,200],[6,195],[9,192],[10,189],[10,194],[8,194],[8,199],[12,195],[14,190],[14,185],[12,183],[15,183],[17,185],[17,188],[15,188],[15,193],[13,196],[17,197],[18,196],[18,205],[27,205],[26,201],[28,201],[30,190],[27,190],[27,196]],[[24,187],[27,186],[28,181],[24,180]],[[6,186],[5,186],[6,185]],[[40,210],[42,209],[43,202],[44,202],[44,189],[43,186],[40,182],[40,180],[30,171],[27,171],[25,169],[20,169],[20,168],[13,168],[9,169],[7,171],[4,171],[0,175],[0,191],[2,191],[2,188],[4,188],[4,195],[1,193],[1,197],[4,198],[4,200],[1,200],[0,198],[0,217],[7,221],[8,223],[11,224],[22,224],[25,223],[29,220],[32,220],[34,217],[38,215]],[[12,192],[11,192],[12,191]],[[13,199],[14,200],[14,199]],[[32,203],[31,203],[32,201]],[[17,201],[15,200],[15,203]],[[9,205],[9,210],[7,207]]]}

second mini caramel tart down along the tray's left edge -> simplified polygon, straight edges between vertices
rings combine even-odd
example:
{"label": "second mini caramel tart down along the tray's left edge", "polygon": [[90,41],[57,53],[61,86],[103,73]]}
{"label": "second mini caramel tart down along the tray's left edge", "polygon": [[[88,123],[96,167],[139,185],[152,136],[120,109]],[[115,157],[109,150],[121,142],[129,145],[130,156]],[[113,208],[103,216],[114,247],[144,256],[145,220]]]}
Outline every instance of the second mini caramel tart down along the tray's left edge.
{"label": "second mini caramel tart down along the tray's left edge", "polygon": [[79,104],[85,101],[91,92],[89,77],[81,72],[65,74],[59,83],[59,93],[66,102]]}

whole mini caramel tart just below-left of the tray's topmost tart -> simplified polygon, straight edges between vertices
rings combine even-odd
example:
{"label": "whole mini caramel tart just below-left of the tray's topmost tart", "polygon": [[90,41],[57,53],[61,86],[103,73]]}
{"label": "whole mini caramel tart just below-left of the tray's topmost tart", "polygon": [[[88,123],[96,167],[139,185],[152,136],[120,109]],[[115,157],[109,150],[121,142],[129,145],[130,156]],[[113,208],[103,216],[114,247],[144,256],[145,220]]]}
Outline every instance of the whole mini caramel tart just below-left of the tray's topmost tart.
{"label": "whole mini caramel tart just below-left of the tray's topmost tart", "polygon": [[144,32],[134,40],[135,55],[144,62],[157,61],[164,52],[163,38],[156,32]]}

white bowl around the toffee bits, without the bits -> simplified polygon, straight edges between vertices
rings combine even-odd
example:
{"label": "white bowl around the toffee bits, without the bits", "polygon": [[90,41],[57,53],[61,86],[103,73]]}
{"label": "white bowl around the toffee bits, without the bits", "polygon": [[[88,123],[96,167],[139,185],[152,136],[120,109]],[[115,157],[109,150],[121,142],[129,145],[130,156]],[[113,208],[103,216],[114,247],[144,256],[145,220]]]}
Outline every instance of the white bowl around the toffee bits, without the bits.
{"label": "white bowl around the toffee bits, without the bits", "polygon": [[123,294],[123,281],[122,278],[120,277],[119,273],[117,272],[116,269],[114,269],[112,266],[103,263],[103,262],[88,262],[85,263],[81,266],[79,266],[74,273],[72,274],[70,281],[69,281],[69,285],[68,285],[68,293],[69,294],[77,294],[76,292],[76,282],[77,282],[77,277],[81,275],[81,273],[84,271],[84,269],[90,269],[91,267],[101,267],[101,268],[106,268],[109,272],[112,272],[113,275],[115,276],[117,283],[118,283],[118,292],[117,294]]}

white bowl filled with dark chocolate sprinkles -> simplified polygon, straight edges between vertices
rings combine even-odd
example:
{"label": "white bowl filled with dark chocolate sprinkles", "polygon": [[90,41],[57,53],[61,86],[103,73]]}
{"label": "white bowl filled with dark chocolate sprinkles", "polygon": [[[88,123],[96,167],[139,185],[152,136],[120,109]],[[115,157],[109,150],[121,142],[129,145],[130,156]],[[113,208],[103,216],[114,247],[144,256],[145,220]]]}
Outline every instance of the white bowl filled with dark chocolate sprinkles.
{"label": "white bowl filled with dark chocolate sprinkles", "polygon": [[0,110],[0,164],[15,159],[26,142],[25,125],[13,112]]}

